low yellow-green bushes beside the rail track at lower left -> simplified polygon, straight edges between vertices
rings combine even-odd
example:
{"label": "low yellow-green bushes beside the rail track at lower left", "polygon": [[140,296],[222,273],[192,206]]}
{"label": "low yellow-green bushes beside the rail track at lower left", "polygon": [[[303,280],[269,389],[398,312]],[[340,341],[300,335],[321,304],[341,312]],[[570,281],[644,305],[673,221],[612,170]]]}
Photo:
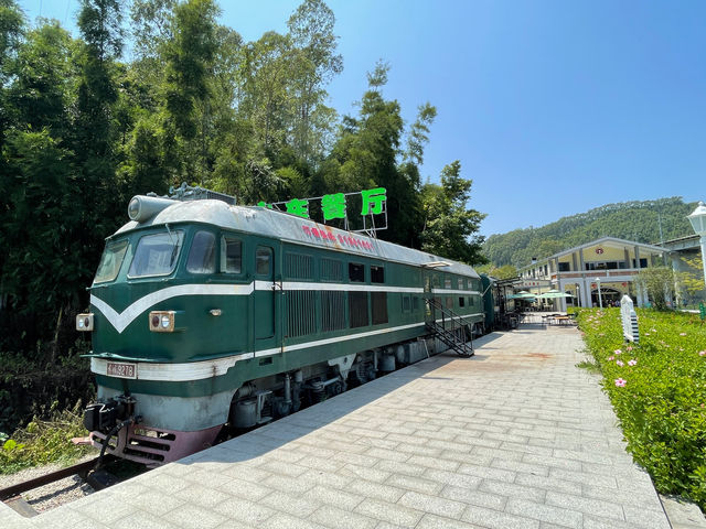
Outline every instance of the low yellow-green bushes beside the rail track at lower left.
{"label": "low yellow-green bushes beside the rail track at lower left", "polygon": [[94,449],[77,446],[72,438],[84,436],[81,402],[71,410],[58,411],[54,403],[49,420],[34,418],[9,439],[0,433],[0,474],[49,463],[72,464]]}

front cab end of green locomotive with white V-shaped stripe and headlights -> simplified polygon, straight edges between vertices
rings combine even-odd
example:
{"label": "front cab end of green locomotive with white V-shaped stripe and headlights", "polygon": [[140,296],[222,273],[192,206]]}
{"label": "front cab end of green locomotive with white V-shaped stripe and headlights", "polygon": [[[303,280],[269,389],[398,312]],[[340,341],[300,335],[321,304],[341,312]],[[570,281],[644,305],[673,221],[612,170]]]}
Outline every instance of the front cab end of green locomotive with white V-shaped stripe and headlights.
{"label": "front cab end of green locomotive with white V-shaped stripe and headlights", "polygon": [[239,241],[216,245],[221,234],[204,220],[210,207],[227,208],[212,202],[136,197],[132,220],[107,240],[90,311],[76,317],[78,331],[93,333],[98,389],[84,424],[104,451],[149,465],[175,461],[212,444],[227,419],[242,384],[228,369],[247,339],[245,317],[232,317],[247,313],[247,296],[233,294],[247,294],[248,283],[212,273],[217,258],[240,271]]}

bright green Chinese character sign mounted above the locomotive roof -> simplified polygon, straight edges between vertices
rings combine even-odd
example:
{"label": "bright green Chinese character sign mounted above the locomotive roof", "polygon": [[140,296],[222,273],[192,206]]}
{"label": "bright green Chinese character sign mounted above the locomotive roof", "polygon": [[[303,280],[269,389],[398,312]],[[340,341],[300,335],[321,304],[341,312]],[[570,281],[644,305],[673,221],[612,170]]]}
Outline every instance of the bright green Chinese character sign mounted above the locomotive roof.
{"label": "bright green Chinese character sign mounted above the locomotive roof", "polygon": [[[346,208],[346,197],[352,195],[356,195],[361,197],[361,215],[362,216],[373,216],[373,215],[385,215],[385,224],[386,224],[386,210],[385,210],[385,202],[387,199],[386,196],[387,191],[385,187],[375,187],[373,190],[361,191],[360,193],[333,193],[331,195],[323,195],[321,197],[315,198],[292,198],[289,202],[277,202],[274,204],[268,204],[266,202],[258,202],[258,206],[267,207],[269,209],[277,208],[284,206],[287,213],[292,215],[297,215],[302,218],[311,218],[309,216],[309,202],[312,201],[321,201],[321,213],[323,215],[324,224],[327,220],[333,220],[335,218],[342,218],[347,223],[347,208]],[[386,226],[385,226],[386,227]],[[383,229],[383,228],[381,228]]]}

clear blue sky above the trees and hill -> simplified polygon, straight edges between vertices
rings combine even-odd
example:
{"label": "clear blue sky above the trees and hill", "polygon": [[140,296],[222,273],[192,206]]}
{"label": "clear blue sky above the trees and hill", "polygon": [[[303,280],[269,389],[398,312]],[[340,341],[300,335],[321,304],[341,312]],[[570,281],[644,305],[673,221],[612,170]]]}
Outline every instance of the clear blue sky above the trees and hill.
{"label": "clear blue sky above the trees and hill", "polygon": [[[300,3],[221,0],[246,40],[284,32]],[[74,25],[78,0],[22,0]],[[354,114],[365,73],[407,122],[438,109],[422,176],[460,160],[481,233],[543,226],[603,204],[706,199],[706,2],[329,0],[344,72],[330,105]],[[699,184],[702,182],[702,184]]]}

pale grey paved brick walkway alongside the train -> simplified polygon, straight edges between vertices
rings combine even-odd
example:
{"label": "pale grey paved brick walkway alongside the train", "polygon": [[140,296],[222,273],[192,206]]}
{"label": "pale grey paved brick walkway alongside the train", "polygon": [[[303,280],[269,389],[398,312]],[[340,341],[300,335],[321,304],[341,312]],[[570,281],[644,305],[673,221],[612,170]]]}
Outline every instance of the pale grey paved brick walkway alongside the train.
{"label": "pale grey paved brick walkway alongside the train", "polygon": [[575,328],[494,333],[7,528],[670,527]]}

